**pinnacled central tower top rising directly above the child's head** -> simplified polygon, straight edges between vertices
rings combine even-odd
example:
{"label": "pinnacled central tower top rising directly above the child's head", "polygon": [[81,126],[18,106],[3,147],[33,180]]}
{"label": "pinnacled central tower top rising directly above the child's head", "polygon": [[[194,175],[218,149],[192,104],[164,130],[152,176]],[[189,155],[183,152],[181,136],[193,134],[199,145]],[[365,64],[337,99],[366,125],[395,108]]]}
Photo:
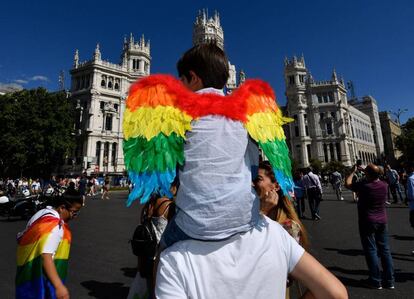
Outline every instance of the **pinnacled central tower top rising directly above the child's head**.
{"label": "pinnacled central tower top rising directly above the child's head", "polygon": [[224,50],[224,33],[220,25],[220,16],[216,11],[212,18],[208,17],[208,12],[204,9],[198,12],[193,27],[193,45],[207,42],[215,42]]}

